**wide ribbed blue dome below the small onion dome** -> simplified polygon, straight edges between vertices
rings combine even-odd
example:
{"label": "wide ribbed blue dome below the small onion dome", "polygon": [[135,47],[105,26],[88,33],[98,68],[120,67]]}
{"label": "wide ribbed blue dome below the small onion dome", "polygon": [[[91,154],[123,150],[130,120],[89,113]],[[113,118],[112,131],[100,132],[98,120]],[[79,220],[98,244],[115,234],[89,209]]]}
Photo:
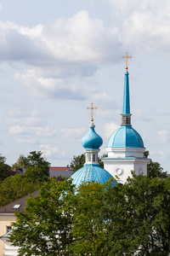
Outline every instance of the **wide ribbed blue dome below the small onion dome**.
{"label": "wide ribbed blue dome below the small onion dome", "polygon": [[[76,184],[77,187],[82,182],[99,182],[99,183],[105,183],[109,179],[113,178],[111,174],[99,165],[84,165],[81,169],[77,170],[77,172],[74,172],[71,175],[71,178],[73,179],[72,183]],[[113,184],[116,185],[116,180],[113,180]]]}

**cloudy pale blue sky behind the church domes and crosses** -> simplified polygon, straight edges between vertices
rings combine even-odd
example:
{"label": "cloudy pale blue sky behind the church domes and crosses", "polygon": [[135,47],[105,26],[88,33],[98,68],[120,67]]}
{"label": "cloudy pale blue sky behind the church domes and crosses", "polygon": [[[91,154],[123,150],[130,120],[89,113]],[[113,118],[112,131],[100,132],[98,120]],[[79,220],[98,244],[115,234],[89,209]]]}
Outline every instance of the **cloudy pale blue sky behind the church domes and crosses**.
{"label": "cloudy pale blue sky behind the church domes and crosses", "polygon": [[82,154],[90,103],[100,155],[121,124],[128,52],[133,128],[170,173],[170,1],[0,0],[0,153]]}

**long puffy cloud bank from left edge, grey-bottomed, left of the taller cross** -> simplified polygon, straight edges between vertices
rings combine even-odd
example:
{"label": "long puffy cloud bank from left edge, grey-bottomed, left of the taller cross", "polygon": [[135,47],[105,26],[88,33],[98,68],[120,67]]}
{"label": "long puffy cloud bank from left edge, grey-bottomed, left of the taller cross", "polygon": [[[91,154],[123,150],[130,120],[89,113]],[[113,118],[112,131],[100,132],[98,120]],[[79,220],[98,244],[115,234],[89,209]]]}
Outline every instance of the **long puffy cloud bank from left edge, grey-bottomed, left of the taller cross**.
{"label": "long puffy cloud bank from left edge, grey-bottomed, left of the taller cross", "polygon": [[116,56],[116,52],[111,53],[114,44],[119,47],[116,30],[106,28],[102,20],[91,19],[87,11],[32,28],[0,21],[1,61],[26,61],[38,66],[56,61],[96,62]]}

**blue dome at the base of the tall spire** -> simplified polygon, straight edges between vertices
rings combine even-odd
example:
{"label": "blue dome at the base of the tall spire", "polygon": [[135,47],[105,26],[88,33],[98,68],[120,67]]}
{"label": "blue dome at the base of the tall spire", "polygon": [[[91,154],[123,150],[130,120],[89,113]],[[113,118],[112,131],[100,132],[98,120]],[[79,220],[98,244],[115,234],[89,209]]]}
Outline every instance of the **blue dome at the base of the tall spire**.
{"label": "blue dome at the base of the tall spire", "polygon": [[139,133],[131,125],[121,125],[113,132],[107,145],[108,148],[144,148]]}

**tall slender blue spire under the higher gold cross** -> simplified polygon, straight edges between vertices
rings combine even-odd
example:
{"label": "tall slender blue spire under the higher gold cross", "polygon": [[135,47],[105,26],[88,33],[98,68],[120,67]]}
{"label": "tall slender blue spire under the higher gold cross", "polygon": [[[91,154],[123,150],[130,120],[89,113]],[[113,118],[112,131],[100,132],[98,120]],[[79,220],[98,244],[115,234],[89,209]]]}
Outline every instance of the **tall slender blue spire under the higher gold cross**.
{"label": "tall slender blue spire under the higher gold cross", "polygon": [[125,79],[124,79],[122,114],[130,114],[130,95],[129,95],[128,72],[125,73]]}

